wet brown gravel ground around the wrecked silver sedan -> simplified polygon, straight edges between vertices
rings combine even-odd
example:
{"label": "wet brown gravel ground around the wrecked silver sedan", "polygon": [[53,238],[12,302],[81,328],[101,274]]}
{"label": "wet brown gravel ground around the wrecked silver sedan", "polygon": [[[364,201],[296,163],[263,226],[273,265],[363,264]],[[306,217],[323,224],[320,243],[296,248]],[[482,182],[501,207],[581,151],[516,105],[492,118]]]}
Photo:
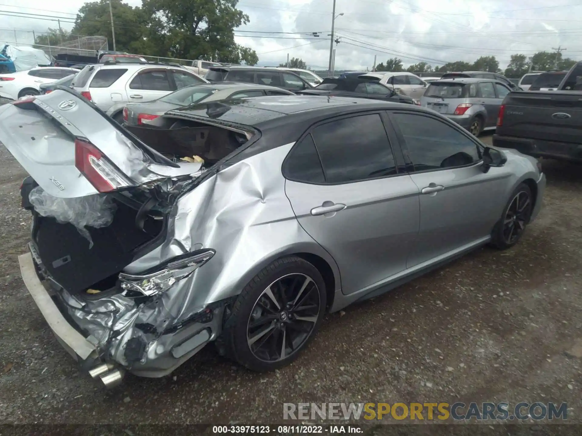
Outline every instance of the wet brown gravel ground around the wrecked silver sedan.
{"label": "wet brown gravel ground around the wrecked silver sedan", "polygon": [[[491,135],[481,138],[491,144]],[[19,276],[30,213],[0,146],[0,422],[278,423],[283,402],[567,402],[582,423],[582,171],[544,161],[537,221],[509,251],[481,248],[328,315],[299,359],[255,374],[209,346],[171,376],[113,391],[77,369]]]}

